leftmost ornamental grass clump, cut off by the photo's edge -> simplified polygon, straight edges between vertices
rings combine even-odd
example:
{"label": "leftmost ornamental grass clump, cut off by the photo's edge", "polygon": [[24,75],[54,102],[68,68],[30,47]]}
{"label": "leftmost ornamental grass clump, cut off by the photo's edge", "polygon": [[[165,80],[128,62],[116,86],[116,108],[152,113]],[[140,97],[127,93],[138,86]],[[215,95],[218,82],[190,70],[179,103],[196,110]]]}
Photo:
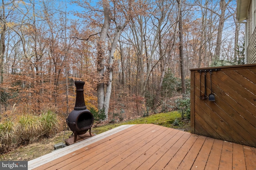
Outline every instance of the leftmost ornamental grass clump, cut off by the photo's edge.
{"label": "leftmost ornamental grass clump, cut off by the photo's edge", "polygon": [[0,123],[0,153],[8,151],[15,140],[14,122],[10,119],[5,119]]}

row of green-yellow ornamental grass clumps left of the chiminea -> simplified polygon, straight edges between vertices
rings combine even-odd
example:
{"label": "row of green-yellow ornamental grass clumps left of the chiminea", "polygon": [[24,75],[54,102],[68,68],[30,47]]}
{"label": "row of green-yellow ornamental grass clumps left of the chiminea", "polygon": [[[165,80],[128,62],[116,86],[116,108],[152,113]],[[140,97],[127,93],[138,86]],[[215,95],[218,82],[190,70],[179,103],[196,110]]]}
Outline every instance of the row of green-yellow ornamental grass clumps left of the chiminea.
{"label": "row of green-yellow ornamental grass clumps left of the chiminea", "polygon": [[49,137],[59,130],[60,121],[56,113],[47,111],[40,116],[26,114],[13,118],[5,118],[0,123],[0,153],[11,147],[26,145],[40,137]]}

